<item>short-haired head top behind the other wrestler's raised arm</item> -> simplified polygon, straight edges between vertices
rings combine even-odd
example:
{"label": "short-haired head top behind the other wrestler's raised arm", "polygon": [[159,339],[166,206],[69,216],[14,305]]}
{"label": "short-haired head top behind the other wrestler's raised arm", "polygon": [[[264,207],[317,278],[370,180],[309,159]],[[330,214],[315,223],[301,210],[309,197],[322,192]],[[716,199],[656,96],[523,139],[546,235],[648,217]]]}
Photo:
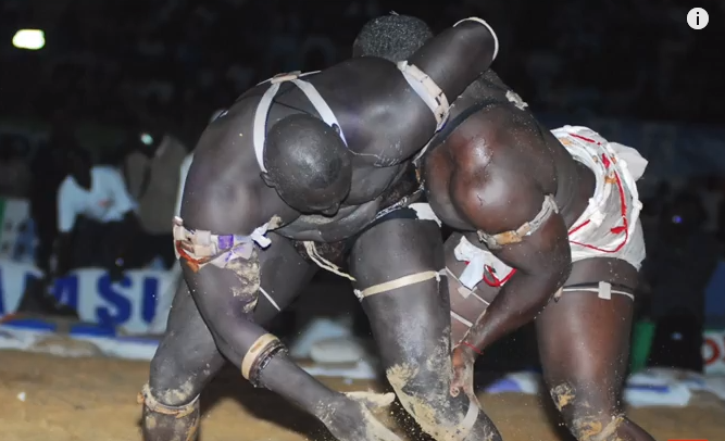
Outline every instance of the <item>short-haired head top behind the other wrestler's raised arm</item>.
{"label": "short-haired head top behind the other wrestler's raised arm", "polygon": [[393,63],[408,60],[433,32],[421,18],[384,15],[365,23],[352,43],[352,56],[379,56]]}

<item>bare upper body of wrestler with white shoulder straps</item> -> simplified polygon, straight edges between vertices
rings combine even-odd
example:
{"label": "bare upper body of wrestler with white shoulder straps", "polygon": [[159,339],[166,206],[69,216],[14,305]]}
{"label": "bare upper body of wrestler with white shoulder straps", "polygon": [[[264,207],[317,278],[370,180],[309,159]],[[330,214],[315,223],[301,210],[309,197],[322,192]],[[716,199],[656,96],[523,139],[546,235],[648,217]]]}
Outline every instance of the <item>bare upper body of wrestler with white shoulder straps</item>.
{"label": "bare upper body of wrestler with white shoulder straps", "polygon": [[[492,41],[486,27],[464,23],[436,37],[409,62],[434,78],[446,96],[455,97],[490,64]],[[462,63],[472,55],[479,61]],[[460,65],[460,72],[453,72],[450,65]],[[190,228],[203,225],[215,232],[248,235],[274,219],[271,226],[290,239],[347,239],[374,218],[384,193],[404,175],[410,159],[435,133],[432,109],[389,61],[351,59],[303,79],[314,86],[334,113],[352,153],[352,187],[337,215],[301,215],[260,176],[254,114],[270,87],[262,84],[213,122],[198,143],[182,207],[182,217]],[[324,119],[302,90],[283,84],[266,125],[272,127],[295,114]]]}

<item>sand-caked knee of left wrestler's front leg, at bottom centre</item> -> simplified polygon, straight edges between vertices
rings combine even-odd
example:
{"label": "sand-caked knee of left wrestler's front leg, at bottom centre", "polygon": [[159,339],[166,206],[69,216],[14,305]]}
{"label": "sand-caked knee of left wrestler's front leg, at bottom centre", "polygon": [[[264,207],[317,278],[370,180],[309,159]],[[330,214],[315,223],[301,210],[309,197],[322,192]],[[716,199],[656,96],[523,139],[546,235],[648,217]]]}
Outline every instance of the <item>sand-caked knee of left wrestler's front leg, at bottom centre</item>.
{"label": "sand-caked knee of left wrestler's front leg, at bottom centre", "polygon": [[[441,368],[442,367],[442,368]],[[430,361],[409,361],[386,370],[398,400],[421,428],[437,441],[463,441],[471,432],[477,415],[471,418],[468,398],[449,393],[449,373],[443,366],[430,366]]]}

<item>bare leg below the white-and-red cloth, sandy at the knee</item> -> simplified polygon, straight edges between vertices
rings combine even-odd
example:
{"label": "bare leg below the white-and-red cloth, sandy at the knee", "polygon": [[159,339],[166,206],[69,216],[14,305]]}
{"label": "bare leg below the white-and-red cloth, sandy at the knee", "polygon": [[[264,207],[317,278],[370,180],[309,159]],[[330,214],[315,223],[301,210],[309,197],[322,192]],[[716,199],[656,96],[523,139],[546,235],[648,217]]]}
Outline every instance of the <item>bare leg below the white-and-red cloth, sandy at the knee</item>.
{"label": "bare leg below the white-and-red cloth, sandy at the knee", "polygon": [[[634,292],[636,280],[624,261],[589,259],[575,263],[564,286],[605,281]],[[654,441],[627,419],[621,398],[633,308],[627,295],[565,290],[536,320],[547,387],[579,441]]]}

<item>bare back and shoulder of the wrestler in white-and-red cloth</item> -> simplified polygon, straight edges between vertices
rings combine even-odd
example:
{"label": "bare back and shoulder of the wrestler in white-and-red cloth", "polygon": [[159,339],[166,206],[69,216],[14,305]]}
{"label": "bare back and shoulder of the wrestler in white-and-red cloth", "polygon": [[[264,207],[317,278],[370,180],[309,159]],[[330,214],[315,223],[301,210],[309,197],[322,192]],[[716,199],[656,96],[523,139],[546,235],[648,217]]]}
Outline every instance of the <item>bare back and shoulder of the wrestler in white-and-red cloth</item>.
{"label": "bare back and shoulder of the wrestler in white-and-red cloth", "polygon": [[497,182],[513,180],[521,182],[522,189],[553,194],[571,227],[593,192],[593,174],[574,161],[528,110],[520,109],[523,105],[516,102],[517,96],[507,98],[507,92],[511,89],[502,83],[484,77],[457,100],[451,127],[442,130],[439,138],[443,139],[434,139],[424,163],[428,201],[445,224],[471,231],[475,228],[451,194],[476,191],[477,198],[491,200],[507,193],[500,203],[515,211],[517,192],[512,197],[512,192],[497,188]]}

